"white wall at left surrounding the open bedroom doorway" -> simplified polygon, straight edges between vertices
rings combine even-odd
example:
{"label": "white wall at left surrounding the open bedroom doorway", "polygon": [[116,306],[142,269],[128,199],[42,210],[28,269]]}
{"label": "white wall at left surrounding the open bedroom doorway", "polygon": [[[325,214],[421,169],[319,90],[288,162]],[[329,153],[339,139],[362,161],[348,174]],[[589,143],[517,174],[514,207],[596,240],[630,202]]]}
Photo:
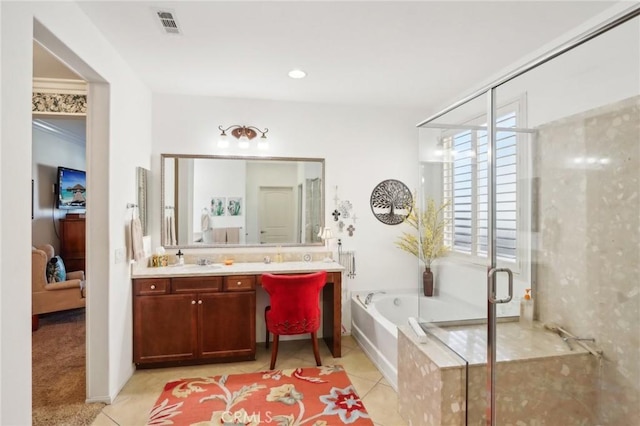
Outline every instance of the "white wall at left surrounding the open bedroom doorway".
{"label": "white wall at left surrounding the open bedroom doorway", "polygon": [[[132,368],[131,280],[125,246],[135,167],[150,168],[150,93],[67,2],[2,2],[0,149],[0,423],[31,423],[31,87],[34,35],[92,83],[87,134],[88,397],[114,397]],[[38,22],[35,22],[37,20]],[[106,82],[107,84],[100,84]],[[135,150],[131,147],[135,146]],[[11,209],[5,206],[12,206]]]}

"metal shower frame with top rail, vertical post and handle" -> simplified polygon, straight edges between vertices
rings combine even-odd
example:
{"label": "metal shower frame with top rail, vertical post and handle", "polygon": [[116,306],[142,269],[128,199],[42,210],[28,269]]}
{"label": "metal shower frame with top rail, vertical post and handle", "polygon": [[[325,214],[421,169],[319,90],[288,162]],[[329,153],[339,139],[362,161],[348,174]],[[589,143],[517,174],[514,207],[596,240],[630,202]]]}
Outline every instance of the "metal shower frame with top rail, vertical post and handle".
{"label": "metal shower frame with top rail, vertical post and handle", "polygon": [[[487,218],[487,244],[488,244],[488,253],[487,253],[487,419],[486,424],[488,426],[497,426],[496,416],[495,416],[495,404],[496,404],[496,348],[497,348],[497,339],[496,339],[496,304],[506,303],[511,300],[511,296],[513,293],[512,288],[512,275],[511,271],[506,268],[496,269],[496,204],[495,204],[495,196],[496,196],[496,188],[495,188],[495,175],[496,175],[496,162],[495,162],[495,152],[496,152],[496,136],[497,136],[497,126],[495,123],[496,120],[496,104],[495,104],[495,92],[496,90],[505,83],[510,82],[511,80],[527,73],[528,71],[533,70],[534,68],[543,65],[552,59],[573,50],[574,48],[581,46],[584,43],[587,43],[589,40],[592,40],[599,35],[606,33],[607,31],[618,27],[621,24],[624,24],[627,21],[630,21],[636,17],[640,16],[640,5],[634,5],[624,9],[623,11],[617,13],[616,15],[610,17],[609,19],[601,22],[600,24],[594,26],[590,30],[584,32],[583,34],[561,44],[557,48],[547,52],[539,56],[538,58],[526,63],[525,65],[515,69],[514,71],[506,74],[505,76],[499,78],[498,80],[490,83],[481,89],[473,92],[472,94],[464,97],[463,99],[455,102],[449,107],[441,110],[440,112],[430,116],[429,118],[423,120],[418,123],[416,127],[431,127],[429,124],[444,116],[445,114],[454,111],[455,109],[465,105],[466,103],[479,98],[481,96],[487,96],[487,144],[489,149],[488,155],[488,218]],[[438,126],[434,126],[438,127]],[[516,129],[511,129],[516,130]],[[509,275],[509,296],[505,299],[496,299],[496,273],[506,272]]]}

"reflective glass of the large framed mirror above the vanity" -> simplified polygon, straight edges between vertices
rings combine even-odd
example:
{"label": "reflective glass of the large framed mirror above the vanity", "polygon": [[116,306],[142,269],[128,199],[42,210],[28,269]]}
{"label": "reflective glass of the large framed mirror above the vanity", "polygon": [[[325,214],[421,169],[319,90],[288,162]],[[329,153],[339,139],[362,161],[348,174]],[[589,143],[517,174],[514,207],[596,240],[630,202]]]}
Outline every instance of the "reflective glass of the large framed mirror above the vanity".
{"label": "reflective glass of the large framed mirror above the vanity", "polygon": [[161,154],[162,244],[321,245],[324,159]]}

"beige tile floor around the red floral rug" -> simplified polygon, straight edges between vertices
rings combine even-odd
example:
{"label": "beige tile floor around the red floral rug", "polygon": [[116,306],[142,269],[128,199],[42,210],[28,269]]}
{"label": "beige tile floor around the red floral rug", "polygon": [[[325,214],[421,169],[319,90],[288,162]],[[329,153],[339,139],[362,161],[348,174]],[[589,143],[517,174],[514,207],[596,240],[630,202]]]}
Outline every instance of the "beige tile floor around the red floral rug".
{"label": "beige tile floor around the red floral rug", "polygon": [[[320,343],[320,355],[323,364],[340,364],[345,368],[351,383],[377,426],[407,425],[398,413],[396,392],[353,338],[350,336],[342,338],[341,358],[333,358],[323,342]],[[264,343],[258,343],[255,361],[137,370],[113,404],[107,405],[102,410],[92,426],[145,425],[147,414],[166,382],[203,374],[252,373],[268,370],[270,357],[270,349],[265,349]],[[276,368],[303,366],[315,366],[311,343],[308,340],[280,342]]]}

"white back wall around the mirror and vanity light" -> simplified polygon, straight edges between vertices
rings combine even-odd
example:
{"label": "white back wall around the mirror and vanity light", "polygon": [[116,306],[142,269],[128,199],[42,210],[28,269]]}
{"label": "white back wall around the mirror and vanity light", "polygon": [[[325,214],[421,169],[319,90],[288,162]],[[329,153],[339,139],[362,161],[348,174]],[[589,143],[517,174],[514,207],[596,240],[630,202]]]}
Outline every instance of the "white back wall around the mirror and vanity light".
{"label": "white back wall around the mirror and vanity light", "polygon": [[[342,239],[344,250],[356,252],[357,276],[345,278],[344,287],[417,288],[420,271],[415,258],[394,246],[402,225],[379,222],[371,213],[369,199],[373,188],[385,179],[398,179],[417,189],[415,124],[424,116],[425,112],[416,110],[154,94],[154,201],[150,203],[153,246],[160,236],[161,153],[319,157],[326,159],[325,222]],[[218,125],[232,123],[268,127],[269,151],[218,148]],[[338,233],[337,222],[333,221],[336,195],[353,204],[357,215],[353,237]],[[345,222],[347,226],[353,223]],[[350,324],[348,312],[344,323]]]}

